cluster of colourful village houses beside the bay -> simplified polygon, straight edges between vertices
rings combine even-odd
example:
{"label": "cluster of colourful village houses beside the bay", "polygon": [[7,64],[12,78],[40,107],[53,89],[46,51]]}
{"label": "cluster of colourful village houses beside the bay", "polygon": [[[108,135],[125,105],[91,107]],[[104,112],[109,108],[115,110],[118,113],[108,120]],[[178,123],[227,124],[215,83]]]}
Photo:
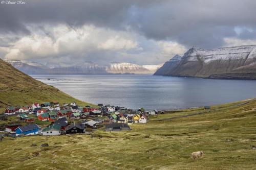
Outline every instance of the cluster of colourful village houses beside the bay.
{"label": "cluster of colourful village houses beside the bay", "polygon": [[[62,106],[57,101],[33,103],[23,107],[8,106],[7,116],[15,116],[12,123],[5,125],[5,135],[18,137],[28,135],[91,134],[92,131],[131,130],[129,125],[147,123],[149,115],[164,111],[145,111],[98,104],[98,107],[78,106],[75,102]],[[39,126],[41,125],[41,126]]]}

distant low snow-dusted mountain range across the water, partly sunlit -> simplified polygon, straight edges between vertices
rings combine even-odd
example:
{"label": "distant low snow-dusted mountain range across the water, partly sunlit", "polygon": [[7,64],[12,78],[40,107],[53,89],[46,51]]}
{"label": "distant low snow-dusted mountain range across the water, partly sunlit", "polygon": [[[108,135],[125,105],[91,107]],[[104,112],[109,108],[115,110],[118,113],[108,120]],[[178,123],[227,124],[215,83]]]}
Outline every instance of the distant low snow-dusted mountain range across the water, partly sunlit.
{"label": "distant low snow-dusted mountain range across the water, partly sunlit", "polygon": [[133,63],[110,63],[99,65],[93,62],[83,62],[73,66],[60,64],[37,64],[20,60],[5,60],[26,74],[153,74],[159,65],[138,65]]}

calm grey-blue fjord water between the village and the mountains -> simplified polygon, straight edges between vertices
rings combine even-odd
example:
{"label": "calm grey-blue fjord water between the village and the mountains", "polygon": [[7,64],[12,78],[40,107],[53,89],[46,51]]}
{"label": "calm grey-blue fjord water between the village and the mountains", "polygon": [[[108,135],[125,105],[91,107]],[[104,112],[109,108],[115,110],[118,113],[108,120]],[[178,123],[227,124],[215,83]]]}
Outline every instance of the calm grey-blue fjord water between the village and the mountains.
{"label": "calm grey-blue fjord water between the village and the mountains", "polygon": [[[256,81],[152,75],[31,75],[82,101],[137,109],[176,109],[256,97]],[[48,80],[50,78],[50,80]]]}

